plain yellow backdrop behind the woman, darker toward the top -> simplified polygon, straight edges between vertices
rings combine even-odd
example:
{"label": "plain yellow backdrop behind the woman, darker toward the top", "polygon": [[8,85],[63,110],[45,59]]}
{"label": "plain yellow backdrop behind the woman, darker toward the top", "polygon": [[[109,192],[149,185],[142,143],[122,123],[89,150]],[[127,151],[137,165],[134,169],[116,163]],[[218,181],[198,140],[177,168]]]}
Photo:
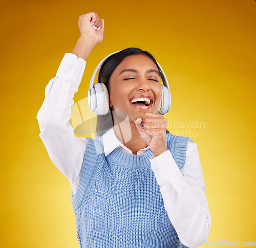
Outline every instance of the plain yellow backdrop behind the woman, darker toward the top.
{"label": "plain yellow backdrop behind the woman, darker toward the top", "polygon": [[[169,122],[204,122],[198,144],[212,217],[209,242],[256,241],[254,0],[5,1],[1,7],[1,247],[79,247],[68,179],[39,138],[45,87],[96,11],[104,39],[74,101],[106,55],[151,52],[172,92]],[[172,128],[169,128],[172,131]],[[188,128],[178,128],[188,131]],[[223,245],[222,247],[225,247]]]}

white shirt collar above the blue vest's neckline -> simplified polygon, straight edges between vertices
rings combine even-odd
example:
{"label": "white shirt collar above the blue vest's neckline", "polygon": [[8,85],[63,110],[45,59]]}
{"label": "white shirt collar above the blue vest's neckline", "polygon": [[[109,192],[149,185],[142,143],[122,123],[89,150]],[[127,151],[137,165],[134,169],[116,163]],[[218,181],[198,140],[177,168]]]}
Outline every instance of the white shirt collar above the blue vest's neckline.
{"label": "white shirt collar above the blue vest's neckline", "polygon": [[[114,151],[116,148],[118,148],[119,150],[121,150],[124,153],[127,154],[133,154],[132,151],[127,148],[126,146],[124,146],[116,137],[116,134],[114,132],[114,128],[112,127],[111,129],[109,129],[108,131],[106,131],[103,136],[103,148],[104,148],[104,154],[105,156],[107,156],[108,154],[110,154],[112,151]],[[150,147],[146,147],[143,149],[140,149],[138,151],[137,154],[142,154],[144,153],[147,149],[149,149]]]}

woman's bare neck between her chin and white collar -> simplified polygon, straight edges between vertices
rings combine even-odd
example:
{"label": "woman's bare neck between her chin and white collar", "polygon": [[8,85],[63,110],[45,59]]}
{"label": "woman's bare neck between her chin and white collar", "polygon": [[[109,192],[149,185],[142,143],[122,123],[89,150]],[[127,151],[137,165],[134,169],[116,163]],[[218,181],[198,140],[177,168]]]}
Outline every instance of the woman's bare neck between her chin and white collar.
{"label": "woman's bare neck between her chin and white collar", "polygon": [[114,132],[117,139],[129,148],[133,154],[137,154],[140,149],[147,147],[146,143],[141,139],[135,123],[130,122],[129,118],[114,125]]}

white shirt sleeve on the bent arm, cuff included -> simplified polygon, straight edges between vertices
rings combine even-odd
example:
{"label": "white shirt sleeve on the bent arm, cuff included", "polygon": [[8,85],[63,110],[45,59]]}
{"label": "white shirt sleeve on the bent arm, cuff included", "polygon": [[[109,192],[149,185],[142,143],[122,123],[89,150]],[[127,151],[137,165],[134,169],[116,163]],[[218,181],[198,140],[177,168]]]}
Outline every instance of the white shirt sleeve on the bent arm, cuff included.
{"label": "white shirt sleeve on the bent arm, cuff included", "polygon": [[188,142],[181,171],[169,150],[151,158],[151,168],[182,244],[197,247],[204,243],[210,232],[211,216],[197,144]]}

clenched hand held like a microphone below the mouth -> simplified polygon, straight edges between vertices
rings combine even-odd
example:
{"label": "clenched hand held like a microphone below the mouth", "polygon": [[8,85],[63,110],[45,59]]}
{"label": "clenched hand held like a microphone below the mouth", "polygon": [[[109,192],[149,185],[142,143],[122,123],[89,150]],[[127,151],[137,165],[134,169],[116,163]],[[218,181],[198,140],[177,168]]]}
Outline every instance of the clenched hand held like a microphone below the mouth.
{"label": "clenched hand held like a microphone below the mouth", "polygon": [[[137,121],[137,122],[136,122]],[[150,147],[154,156],[166,151],[166,119],[162,115],[145,112],[142,118],[134,121],[142,140]]]}

